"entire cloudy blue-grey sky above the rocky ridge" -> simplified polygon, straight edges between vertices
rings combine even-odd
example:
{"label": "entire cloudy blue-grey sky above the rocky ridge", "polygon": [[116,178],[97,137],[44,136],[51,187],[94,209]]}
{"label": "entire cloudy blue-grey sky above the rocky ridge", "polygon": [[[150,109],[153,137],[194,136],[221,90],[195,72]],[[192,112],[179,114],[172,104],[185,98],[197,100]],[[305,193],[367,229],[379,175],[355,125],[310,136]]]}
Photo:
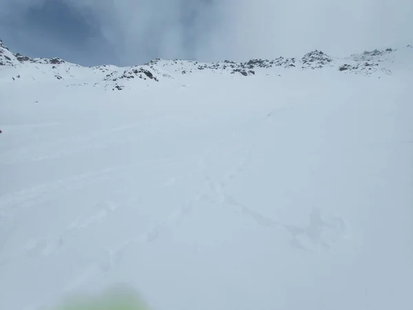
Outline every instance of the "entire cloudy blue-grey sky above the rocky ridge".
{"label": "entire cloudy blue-grey sky above the rocky ridge", "polygon": [[413,40],[413,0],[0,0],[13,52],[82,65],[333,56]]}

